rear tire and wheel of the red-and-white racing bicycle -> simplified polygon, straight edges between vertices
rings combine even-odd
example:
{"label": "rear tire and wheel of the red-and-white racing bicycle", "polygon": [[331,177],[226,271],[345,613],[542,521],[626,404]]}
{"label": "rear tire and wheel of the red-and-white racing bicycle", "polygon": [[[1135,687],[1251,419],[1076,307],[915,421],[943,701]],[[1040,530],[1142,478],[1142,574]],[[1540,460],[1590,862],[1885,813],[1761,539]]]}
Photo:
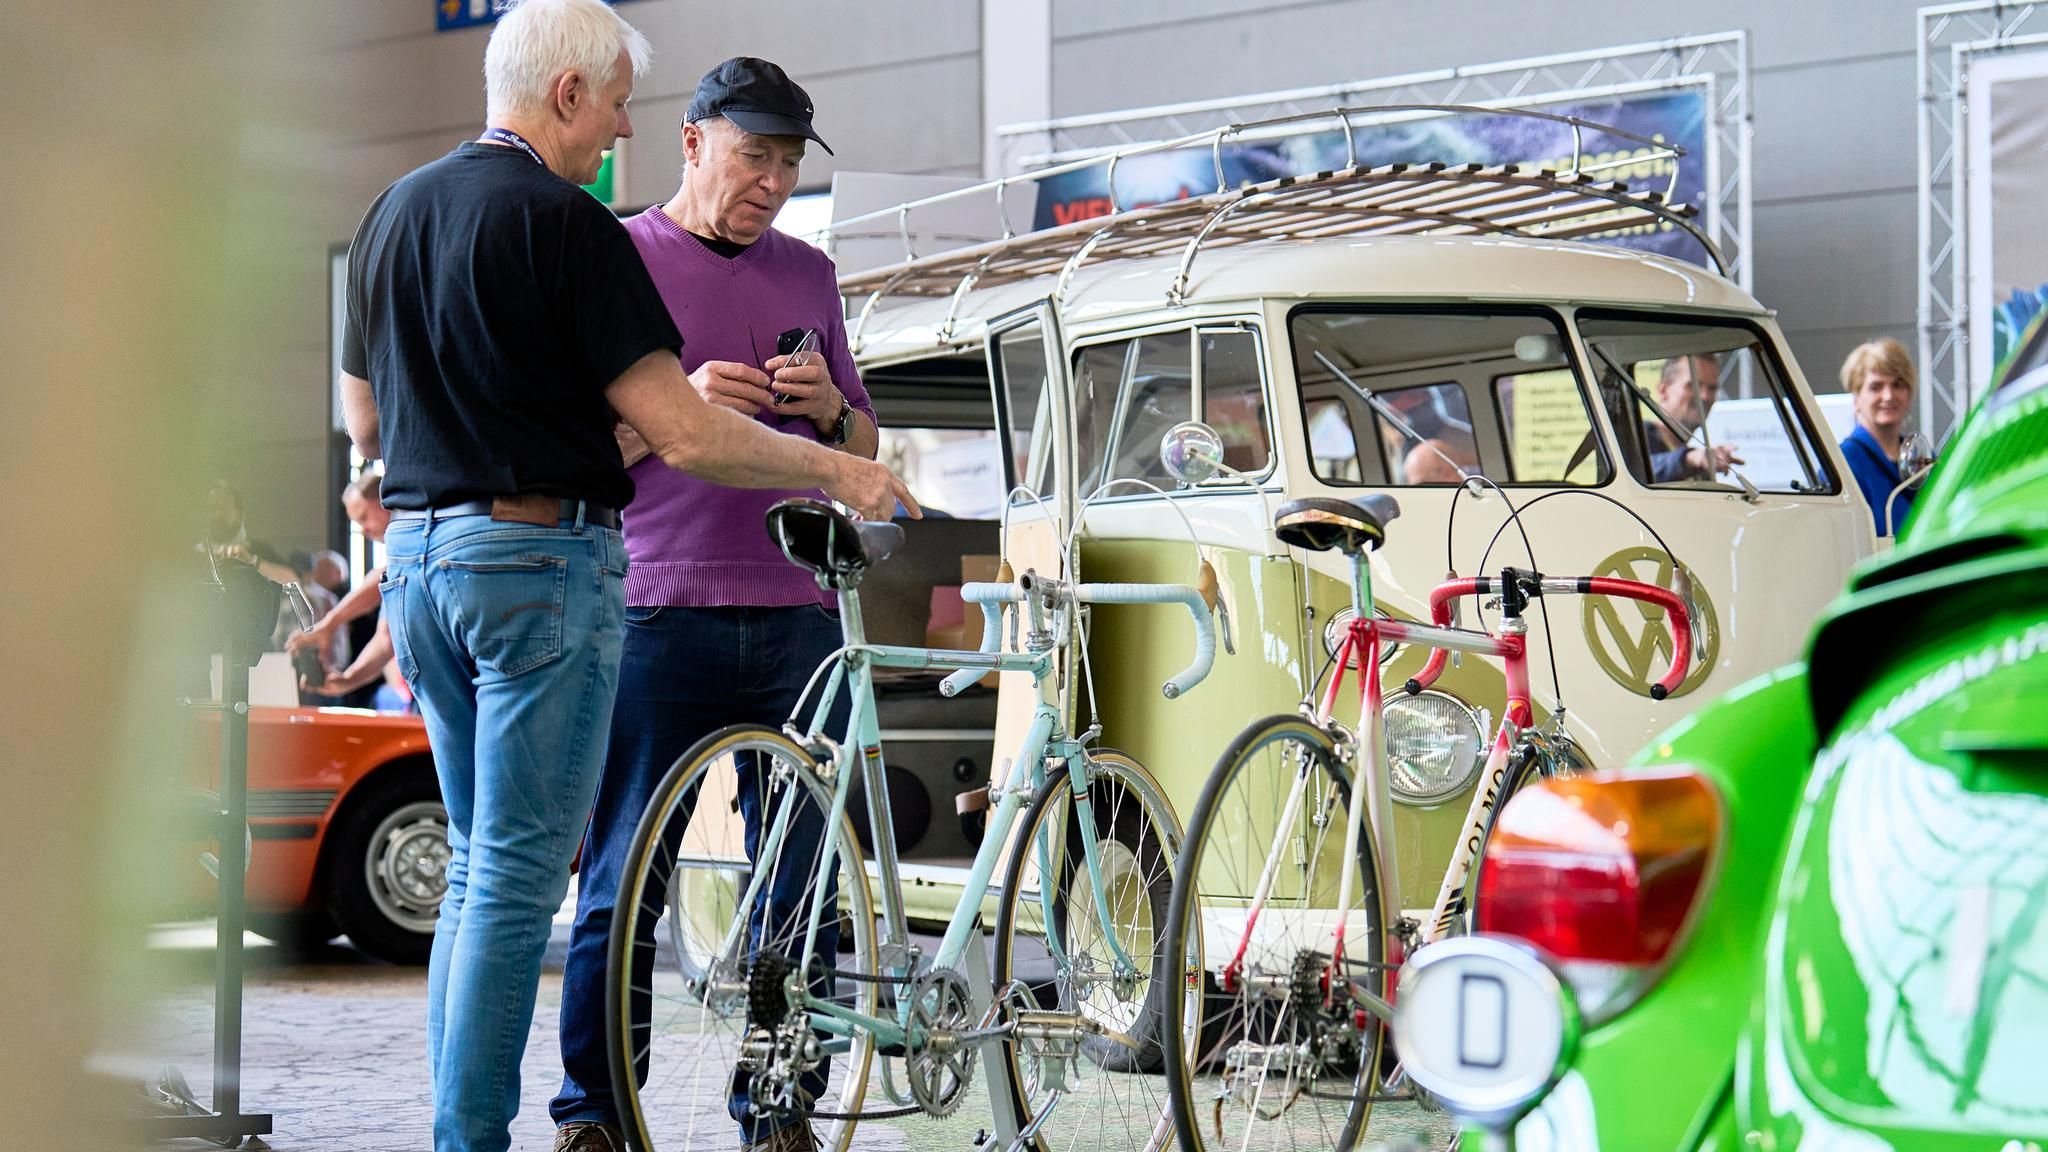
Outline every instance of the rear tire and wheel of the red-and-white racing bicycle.
{"label": "rear tire and wheel of the red-and-white racing bicycle", "polygon": [[[1298,892],[1290,894],[1288,900],[1280,900],[1282,886],[1274,886],[1274,898],[1268,900],[1266,910],[1260,914],[1260,924],[1266,927],[1266,943],[1260,943],[1257,957],[1253,963],[1247,963],[1247,974],[1255,968],[1266,972],[1266,968],[1274,968],[1268,961],[1286,955],[1294,957],[1292,963],[1313,965],[1317,941],[1327,941],[1323,933],[1335,929],[1333,873],[1343,867],[1343,861],[1337,857],[1343,855],[1350,775],[1339,763],[1331,738],[1319,726],[1298,715],[1272,715],[1253,722],[1225,748],[1217,760],[1217,769],[1202,785],[1202,795],[1188,820],[1188,836],[1174,867],[1174,900],[1167,908],[1169,935],[1161,951],[1163,955],[1202,957],[1200,963],[1188,965],[1184,984],[1188,988],[1204,988],[1200,1013],[1188,1013],[1186,998],[1176,996],[1167,1000],[1167,1009],[1174,1013],[1169,1027],[1182,1037],[1180,1043],[1165,1047],[1167,1088],[1171,1093],[1174,1129],[1186,1152],[1204,1152],[1208,1148],[1251,1152],[1268,1148],[1352,1148],[1364,1136],[1372,1115],[1376,1070],[1386,1041],[1386,1025],[1372,1015],[1366,1015],[1364,1027],[1356,1029],[1356,1052],[1350,1058],[1350,1068],[1329,1066],[1331,1076],[1348,1076],[1341,1086],[1327,1080],[1317,1086],[1321,1074],[1319,1068],[1311,1066],[1300,1084],[1290,1086],[1288,1080],[1282,1080],[1276,1097],[1284,1097],[1286,1103],[1278,1105],[1278,1111],[1270,1117],[1264,1117],[1260,1107],[1266,1093],[1266,1076],[1270,1076],[1272,1068],[1270,1062],[1260,1068],[1249,1107],[1241,1111],[1237,1107],[1237,1097],[1243,1093],[1241,1082],[1233,1084],[1231,1076],[1225,1074],[1210,1086],[1204,1078],[1210,1066],[1219,1064],[1219,1058],[1229,1068],[1231,1054],[1239,1052],[1239,1045],[1249,1050],[1264,1039],[1268,1050],[1282,1050],[1288,1043],[1296,1043],[1296,1035],[1286,1029],[1296,1027],[1290,1021],[1305,1019],[1305,1015],[1286,1011],[1294,1006],[1292,1002],[1282,1009],[1257,1004],[1247,994],[1223,992],[1221,984],[1217,984],[1219,992],[1206,992],[1212,970],[1208,959],[1212,957],[1204,947],[1231,947],[1235,951],[1233,941],[1243,941],[1245,955],[1251,955],[1251,945],[1260,939],[1251,937],[1249,931],[1217,933],[1214,929],[1204,929],[1204,918],[1227,922],[1229,914],[1237,908],[1235,904],[1227,904],[1227,900],[1247,900],[1257,888],[1257,875],[1264,865],[1251,867],[1251,875],[1247,877],[1245,869],[1231,867],[1229,853],[1247,849],[1245,859],[1253,859],[1253,853],[1264,859],[1268,849],[1284,842],[1278,836],[1278,822],[1290,781],[1284,771],[1274,771],[1278,765],[1268,763],[1266,752],[1274,748],[1280,748],[1282,765],[1290,754],[1288,750],[1292,750],[1294,767],[1290,771],[1311,773],[1303,795],[1305,812],[1298,814],[1296,830],[1305,826],[1300,820],[1307,820],[1307,826],[1319,828],[1313,842],[1317,849],[1329,849],[1329,863],[1319,871],[1321,853],[1303,857],[1300,865],[1296,865],[1296,879],[1305,881],[1296,886]],[[1255,775],[1280,779],[1260,781],[1253,779]],[[1247,793],[1241,801],[1237,799],[1239,785]],[[1255,795],[1249,795],[1253,787],[1274,785],[1278,787],[1278,799],[1270,804],[1260,804]],[[1325,814],[1321,824],[1309,812],[1317,808]],[[1266,812],[1270,812],[1274,832],[1262,838],[1257,820]],[[1331,832],[1335,834],[1333,845]],[[1307,849],[1307,840],[1300,847]],[[1372,830],[1366,826],[1360,830],[1358,859],[1352,861],[1352,867],[1358,869],[1354,875],[1356,906],[1346,910],[1343,937],[1348,951],[1354,955],[1350,955],[1350,970],[1343,978],[1348,986],[1384,998],[1389,978],[1389,920],[1386,894],[1380,890],[1376,859]],[[1204,883],[1210,886],[1208,894],[1202,892]],[[1327,900],[1329,908],[1319,908],[1317,900]],[[1352,916],[1358,916],[1356,931],[1350,927],[1354,922]],[[1274,924],[1278,924],[1278,933],[1272,931]],[[1356,955],[1360,949],[1364,955]],[[1309,959],[1305,961],[1303,957]],[[1323,963],[1327,970],[1327,955]],[[1270,976],[1270,972],[1266,974]],[[1323,1009],[1323,1023],[1315,1027],[1325,1029],[1321,1035],[1335,1035],[1329,1031],[1333,1025],[1327,1023],[1333,1019],[1327,1015],[1329,1009]],[[1204,1099],[1204,1093],[1208,1099]],[[1317,1101],[1323,1101],[1323,1105]],[[1296,1107],[1307,1107],[1309,1113],[1294,1115],[1288,1125],[1268,1123],[1264,1136],[1253,1132],[1255,1123],[1280,1121]],[[1239,1127],[1243,1132],[1225,1132],[1227,1117],[1249,1119],[1241,1119]],[[1298,1129],[1303,1121],[1309,1132]]]}

